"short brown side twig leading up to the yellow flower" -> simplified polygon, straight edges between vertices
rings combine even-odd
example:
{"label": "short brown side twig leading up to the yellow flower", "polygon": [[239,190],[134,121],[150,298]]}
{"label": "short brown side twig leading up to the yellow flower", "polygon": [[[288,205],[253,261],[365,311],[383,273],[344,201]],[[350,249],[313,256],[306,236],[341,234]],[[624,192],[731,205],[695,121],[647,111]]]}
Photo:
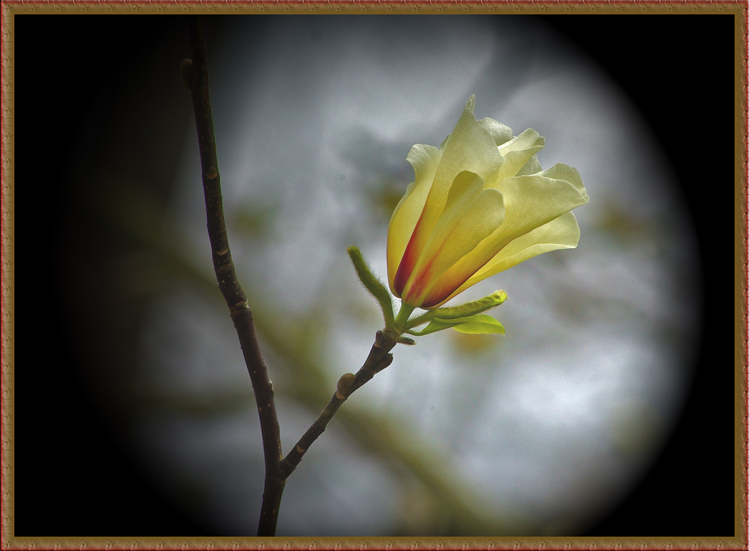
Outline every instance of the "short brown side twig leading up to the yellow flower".
{"label": "short brown side twig leading up to the yellow flower", "polygon": [[327,427],[327,424],[333,418],[333,415],[335,415],[339,407],[341,407],[341,404],[344,403],[351,394],[354,394],[354,391],[356,391],[357,388],[360,388],[360,386],[364,385],[369,381],[369,379],[372,379],[372,377],[375,376],[375,373],[382,371],[392,363],[392,354],[389,354],[389,352],[395,344],[395,340],[386,337],[382,331],[377,331],[375,344],[373,344],[372,349],[369,350],[369,356],[367,356],[361,369],[357,371],[356,376],[353,377],[353,380],[350,379],[350,377],[353,376],[352,373],[348,373],[349,377],[346,375],[341,377],[338,383],[339,388],[336,390],[336,393],[333,394],[328,405],[325,406],[321,414],[318,415],[318,418],[315,419],[315,422],[312,423],[312,426],[309,427],[307,432],[299,439],[297,445],[295,445],[285,459],[282,460],[279,466],[279,471],[285,478],[294,472],[294,469],[299,465],[299,462],[302,460],[302,457],[304,457],[309,446],[312,445],[312,442],[315,442],[315,440],[318,439],[318,436],[324,432],[325,427]]}

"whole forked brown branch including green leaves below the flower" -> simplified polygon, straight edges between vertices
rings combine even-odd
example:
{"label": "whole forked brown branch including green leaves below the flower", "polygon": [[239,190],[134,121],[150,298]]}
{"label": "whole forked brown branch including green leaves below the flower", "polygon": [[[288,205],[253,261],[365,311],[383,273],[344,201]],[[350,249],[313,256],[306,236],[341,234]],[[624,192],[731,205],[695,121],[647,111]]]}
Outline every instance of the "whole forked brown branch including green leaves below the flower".
{"label": "whole forked brown branch including green leaves below the flower", "polygon": [[[462,304],[458,307],[431,310],[413,319],[410,319],[410,315],[413,313],[414,307],[401,304],[398,316],[395,316],[389,292],[369,270],[369,266],[366,265],[366,261],[357,247],[350,247],[348,253],[354,262],[357,274],[364,286],[380,303],[385,327],[375,334],[375,343],[369,350],[369,355],[360,370],[356,374],[345,373],[341,376],[330,402],[324,407],[307,432],[303,434],[299,442],[294,445],[294,448],[284,457],[281,450],[281,436],[273,396],[273,383],[268,376],[268,370],[258,345],[252,309],[247,303],[247,296],[234,271],[234,262],[231,259],[231,250],[226,234],[221,177],[216,157],[213,115],[208,93],[207,49],[204,28],[199,16],[189,17],[189,36],[192,46],[192,59],[184,59],[180,65],[180,71],[182,80],[190,91],[192,107],[195,111],[208,237],[213,253],[213,270],[216,273],[219,290],[226,302],[239,337],[244,361],[252,381],[252,390],[255,393],[258,417],[260,418],[265,462],[265,484],[260,522],[258,523],[258,536],[273,536],[276,533],[276,522],[286,479],[297,468],[309,446],[324,432],[327,424],[342,403],[358,388],[372,379],[376,373],[392,364],[390,351],[393,347],[398,343],[415,344],[413,339],[404,337],[403,334],[422,335],[448,327],[473,333],[504,332],[499,322],[491,316],[476,316],[476,314],[502,304],[507,295],[503,291],[497,291],[479,301]],[[429,325],[423,331],[413,331],[413,328],[424,323]]]}

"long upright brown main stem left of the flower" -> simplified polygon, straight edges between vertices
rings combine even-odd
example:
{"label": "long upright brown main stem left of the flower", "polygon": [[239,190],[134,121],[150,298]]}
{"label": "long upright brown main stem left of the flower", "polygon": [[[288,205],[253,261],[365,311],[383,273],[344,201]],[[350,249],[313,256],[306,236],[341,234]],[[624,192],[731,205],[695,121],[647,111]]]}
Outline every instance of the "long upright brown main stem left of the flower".
{"label": "long upright brown main stem left of the flower", "polygon": [[268,370],[260,353],[257,334],[255,334],[252,310],[237,280],[234,262],[231,261],[224,222],[219,163],[216,159],[216,140],[213,136],[213,116],[210,112],[205,32],[199,16],[189,17],[189,37],[192,46],[192,62],[183,61],[181,70],[183,81],[192,94],[192,107],[195,110],[208,237],[213,251],[213,269],[216,271],[216,280],[218,280],[221,294],[229,308],[231,321],[234,322],[234,328],[237,330],[244,361],[252,381],[252,390],[255,392],[265,459],[265,487],[258,536],[272,536],[276,533],[276,520],[285,484],[285,477],[279,473],[279,465],[283,457],[279,421],[273,400],[273,385],[268,378]]}

